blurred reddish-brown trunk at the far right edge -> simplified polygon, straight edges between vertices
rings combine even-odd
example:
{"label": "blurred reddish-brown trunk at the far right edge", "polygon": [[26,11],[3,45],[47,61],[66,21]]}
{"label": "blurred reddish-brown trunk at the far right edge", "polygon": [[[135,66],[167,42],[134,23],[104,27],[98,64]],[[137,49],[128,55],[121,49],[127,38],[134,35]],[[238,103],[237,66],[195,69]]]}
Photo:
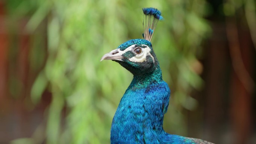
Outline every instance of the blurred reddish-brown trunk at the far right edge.
{"label": "blurred reddish-brown trunk at the far right edge", "polygon": [[[243,27],[241,27],[243,25]],[[236,18],[226,18],[226,31],[233,65],[231,73],[231,123],[234,144],[249,143],[252,126],[252,95],[255,83],[252,79],[253,48],[248,27]]]}

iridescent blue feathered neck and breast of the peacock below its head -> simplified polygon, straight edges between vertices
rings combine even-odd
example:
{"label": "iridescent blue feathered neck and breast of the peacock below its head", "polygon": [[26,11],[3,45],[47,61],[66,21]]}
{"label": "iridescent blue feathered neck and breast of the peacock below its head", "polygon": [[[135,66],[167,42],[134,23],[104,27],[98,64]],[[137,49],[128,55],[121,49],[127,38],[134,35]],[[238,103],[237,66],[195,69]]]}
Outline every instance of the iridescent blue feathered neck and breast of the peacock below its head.
{"label": "iridescent blue feathered neck and breast of the peacock below its head", "polygon": [[162,128],[169,96],[160,68],[148,76],[134,76],[113,118],[111,144],[182,144],[185,137]]}

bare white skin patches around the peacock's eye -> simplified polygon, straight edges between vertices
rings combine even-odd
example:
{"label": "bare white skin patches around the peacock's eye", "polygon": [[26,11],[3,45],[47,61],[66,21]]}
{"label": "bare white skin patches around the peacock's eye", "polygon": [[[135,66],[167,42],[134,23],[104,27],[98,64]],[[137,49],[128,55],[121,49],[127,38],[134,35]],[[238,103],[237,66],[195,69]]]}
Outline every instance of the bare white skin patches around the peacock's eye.
{"label": "bare white skin patches around the peacock's eye", "polygon": [[[146,57],[149,55],[153,59],[153,62],[155,62],[155,59],[153,58],[153,56],[150,53],[151,49],[147,45],[142,45],[142,46],[146,46],[146,47],[141,48],[142,52],[139,55],[135,54],[135,56],[133,56],[132,58],[129,58],[129,61],[144,62],[144,61],[147,61]],[[135,48],[135,45],[131,45],[128,48],[126,48],[124,51],[118,50],[118,52],[119,52],[118,55],[122,55],[127,51],[132,51],[132,50],[134,50],[134,48]]]}

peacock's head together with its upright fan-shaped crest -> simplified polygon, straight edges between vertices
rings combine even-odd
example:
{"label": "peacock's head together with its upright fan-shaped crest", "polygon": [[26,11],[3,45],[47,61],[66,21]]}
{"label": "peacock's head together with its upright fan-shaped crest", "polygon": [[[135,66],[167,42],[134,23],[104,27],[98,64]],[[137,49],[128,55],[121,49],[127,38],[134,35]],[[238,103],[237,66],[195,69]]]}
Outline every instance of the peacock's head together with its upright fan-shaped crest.
{"label": "peacock's head together with its upright fan-shaped crest", "polygon": [[103,59],[111,59],[118,62],[134,76],[145,76],[145,74],[150,74],[156,70],[161,73],[150,40],[157,22],[162,20],[163,17],[161,12],[153,7],[143,8],[142,10],[144,13],[143,27],[145,29],[142,34],[144,39],[129,40],[101,58],[101,61]]}

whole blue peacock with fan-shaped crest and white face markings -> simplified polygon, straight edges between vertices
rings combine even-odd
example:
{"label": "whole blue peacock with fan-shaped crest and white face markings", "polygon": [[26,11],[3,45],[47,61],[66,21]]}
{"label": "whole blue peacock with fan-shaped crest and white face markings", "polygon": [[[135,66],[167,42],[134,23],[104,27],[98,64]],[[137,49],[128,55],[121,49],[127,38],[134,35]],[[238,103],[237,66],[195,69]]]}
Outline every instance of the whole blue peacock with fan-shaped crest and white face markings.
{"label": "whole blue peacock with fan-shaped crest and white face markings", "polygon": [[164,131],[170,88],[162,80],[162,71],[150,42],[157,22],[163,17],[153,7],[143,8],[143,13],[144,39],[128,40],[101,58],[101,61],[118,62],[134,76],[113,117],[110,143],[213,144]]}

